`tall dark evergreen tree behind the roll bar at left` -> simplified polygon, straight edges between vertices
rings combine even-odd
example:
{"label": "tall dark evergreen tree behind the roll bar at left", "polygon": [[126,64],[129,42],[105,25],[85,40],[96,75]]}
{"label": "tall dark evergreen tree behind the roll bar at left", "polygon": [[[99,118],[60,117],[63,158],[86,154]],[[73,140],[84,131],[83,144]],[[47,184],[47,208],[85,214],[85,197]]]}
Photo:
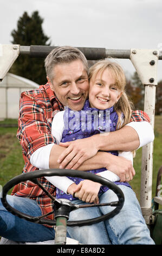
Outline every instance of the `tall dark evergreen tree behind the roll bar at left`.
{"label": "tall dark evergreen tree behind the roll bar at left", "polygon": [[[17,29],[11,32],[12,44],[19,45],[50,45],[47,44],[48,36],[44,34],[42,28],[43,19],[38,11],[34,11],[31,17],[24,12],[17,22]],[[40,58],[30,58],[20,55],[10,70],[15,75],[22,76],[38,84],[47,82],[44,60]]]}

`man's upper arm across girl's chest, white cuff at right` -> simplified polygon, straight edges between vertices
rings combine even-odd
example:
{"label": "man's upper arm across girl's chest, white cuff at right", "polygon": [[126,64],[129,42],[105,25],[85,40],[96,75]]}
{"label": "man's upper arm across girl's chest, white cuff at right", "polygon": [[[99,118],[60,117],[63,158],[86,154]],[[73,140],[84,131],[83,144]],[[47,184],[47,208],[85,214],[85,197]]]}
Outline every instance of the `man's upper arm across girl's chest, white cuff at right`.
{"label": "man's upper arm across girl's chest, white cuff at right", "polygon": [[[95,150],[120,150],[133,151],[142,147],[154,139],[153,129],[148,123],[150,119],[145,112],[134,111],[131,123],[120,130],[94,135],[90,138],[79,139],[76,142],[60,143],[67,149],[59,157],[62,168],[77,169],[79,165],[91,157],[90,151]],[[146,132],[147,131],[147,132]]]}

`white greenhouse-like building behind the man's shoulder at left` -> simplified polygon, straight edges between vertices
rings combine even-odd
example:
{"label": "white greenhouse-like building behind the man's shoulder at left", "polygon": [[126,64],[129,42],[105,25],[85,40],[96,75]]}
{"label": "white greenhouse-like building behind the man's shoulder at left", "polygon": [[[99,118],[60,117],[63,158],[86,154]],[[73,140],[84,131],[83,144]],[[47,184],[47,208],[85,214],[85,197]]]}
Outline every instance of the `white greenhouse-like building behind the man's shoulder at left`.
{"label": "white greenhouse-like building behind the man's shoulder at left", "polygon": [[8,73],[0,82],[0,119],[17,119],[21,93],[38,87],[27,78]]}

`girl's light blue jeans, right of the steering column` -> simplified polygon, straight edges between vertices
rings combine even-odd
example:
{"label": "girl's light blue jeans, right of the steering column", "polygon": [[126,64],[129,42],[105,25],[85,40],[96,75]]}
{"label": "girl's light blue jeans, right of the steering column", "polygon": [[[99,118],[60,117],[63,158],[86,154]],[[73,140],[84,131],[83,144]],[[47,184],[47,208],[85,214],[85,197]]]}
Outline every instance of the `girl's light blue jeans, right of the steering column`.
{"label": "girl's light blue jeans, right of the steering column", "polygon": [[[70,237],[89,245],[154,245],[135,193],[130,187],[119,187],[125,195],[125,203],[119,214],[98,224],[68,227]],[[118,197],[112,190],[108,190],[99,196],[99,200],[100,203],[108,203],[118,200]],[[74,200],[73,203],[85,204],[81,200]],[[112,206],[81,208],[70,212],[69,220],[87,220],[107,214],[113,209]]]}

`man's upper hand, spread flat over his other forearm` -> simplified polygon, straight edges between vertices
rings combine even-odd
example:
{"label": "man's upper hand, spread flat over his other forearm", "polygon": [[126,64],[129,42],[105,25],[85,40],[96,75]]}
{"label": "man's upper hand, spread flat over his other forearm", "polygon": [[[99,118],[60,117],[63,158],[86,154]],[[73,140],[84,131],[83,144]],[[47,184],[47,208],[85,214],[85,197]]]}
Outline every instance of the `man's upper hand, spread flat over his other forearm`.
{"label": "man's upper hand, spread flat over his other forearm", "polygon": [[98,147],[91,137],[77,139],[73,142],[60,143],[60,146],[66,147],[57,160],[60,163],[60,169],[77,169],[83,162],[95,156]]}

